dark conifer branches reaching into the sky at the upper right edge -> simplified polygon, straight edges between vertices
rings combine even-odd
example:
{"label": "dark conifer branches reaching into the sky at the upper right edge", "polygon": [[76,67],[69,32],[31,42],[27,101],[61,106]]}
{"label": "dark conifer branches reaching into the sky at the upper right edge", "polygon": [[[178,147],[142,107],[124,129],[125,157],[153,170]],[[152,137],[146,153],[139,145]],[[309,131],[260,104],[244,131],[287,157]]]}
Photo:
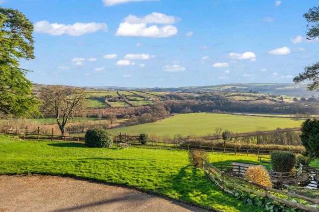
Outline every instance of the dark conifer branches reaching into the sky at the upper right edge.
{"label": "dark conifer branches reaching into the sky at the upper right edge", "polygon": [[[304,17],[308,21],[308,32],[307,39],[314,40],[319,37],[319,6],[309,9],[308,13],[304,14]],[[299,76],[294,78],[294,82],[300,83],[305,80],[310,80],[308,84],[308,90],[319,91],[319,62],[307,66],[304,72],[300,73]]]}

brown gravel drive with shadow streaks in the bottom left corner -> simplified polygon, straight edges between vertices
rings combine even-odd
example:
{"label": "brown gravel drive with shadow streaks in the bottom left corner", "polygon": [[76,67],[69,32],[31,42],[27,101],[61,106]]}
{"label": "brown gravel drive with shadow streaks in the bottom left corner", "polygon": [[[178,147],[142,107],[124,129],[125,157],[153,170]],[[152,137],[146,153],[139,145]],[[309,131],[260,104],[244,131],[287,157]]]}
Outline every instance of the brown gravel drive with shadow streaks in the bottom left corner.
{"label": "brown gravel drive with shadow streaks in the bottom left corner", "polygon": [[0,176],[0,212],[204,212],[140,191],[55,176]]}

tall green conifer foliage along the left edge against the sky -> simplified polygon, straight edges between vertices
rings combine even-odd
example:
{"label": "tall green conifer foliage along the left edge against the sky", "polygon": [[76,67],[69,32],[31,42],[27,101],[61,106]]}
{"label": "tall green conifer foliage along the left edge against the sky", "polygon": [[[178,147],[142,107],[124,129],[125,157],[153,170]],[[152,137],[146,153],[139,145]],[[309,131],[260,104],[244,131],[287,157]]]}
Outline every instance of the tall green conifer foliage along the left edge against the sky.
{"label": "tall green conifer foliage along the left edge against the sky", "polygon": [[0,7],[0,113],[30,117],[38,112],[21,59],[34,59],[33,24],[18,10]]}

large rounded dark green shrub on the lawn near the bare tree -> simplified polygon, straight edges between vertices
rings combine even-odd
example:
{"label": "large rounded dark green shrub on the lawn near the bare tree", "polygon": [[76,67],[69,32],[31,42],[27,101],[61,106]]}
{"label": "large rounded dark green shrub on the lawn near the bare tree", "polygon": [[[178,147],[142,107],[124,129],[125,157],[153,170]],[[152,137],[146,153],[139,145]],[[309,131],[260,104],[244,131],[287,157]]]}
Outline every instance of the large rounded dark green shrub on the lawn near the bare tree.
{"label": "large rounded dark green shrub on the lawn near the bare tree", "polygon": [[89,147],[111,147],[113,138],[108,131],[95,128],[85,133],[85,144]]}

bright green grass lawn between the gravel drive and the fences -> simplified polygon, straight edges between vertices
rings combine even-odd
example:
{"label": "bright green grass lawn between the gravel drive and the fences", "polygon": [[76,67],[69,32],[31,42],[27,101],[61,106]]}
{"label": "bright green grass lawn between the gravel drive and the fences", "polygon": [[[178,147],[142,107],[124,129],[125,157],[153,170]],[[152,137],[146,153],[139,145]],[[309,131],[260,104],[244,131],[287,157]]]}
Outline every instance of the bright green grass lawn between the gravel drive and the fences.
{"label": "bright green grass lawn between the gravel drive and the fences", "polygon": [[[213,153],[213,163],[257,163],[256,156]],[[260,211],[220,191],[187,151],[131,147],[88,148],[81,143],[18,141],[0,136],[0,174],[74,176],[123,185],[225,212]]]}

